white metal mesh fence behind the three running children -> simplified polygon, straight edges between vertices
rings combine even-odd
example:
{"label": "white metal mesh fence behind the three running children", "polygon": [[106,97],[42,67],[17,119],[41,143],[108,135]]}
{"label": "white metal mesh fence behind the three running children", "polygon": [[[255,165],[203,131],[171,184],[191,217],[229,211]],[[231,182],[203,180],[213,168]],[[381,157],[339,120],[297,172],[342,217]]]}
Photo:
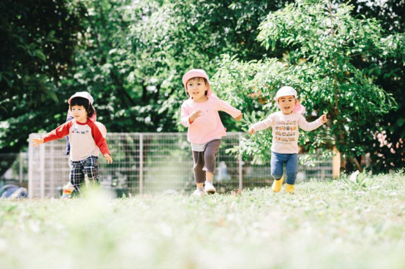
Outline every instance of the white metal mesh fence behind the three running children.
{"label": "white metal mesh fence behind the three running children", "polygon": [[[226,153],[245,133],[229,132],[217,155],[214,185],[219,192],[235,188],[269,186],[269,164],[251,165],[249,160]],[[29,141],[41,134],[30,134]],[[195,188],[193,160],[186,133],[108,133],[113,163],[100,156],[100,184],[118,195],[163,191],[190,192]],[[69,179],[65,139],[29,147],[29,197],[58,197]],[[315,166],[300,166],[297,182],[332,177],[332,160],[315,157]]]}

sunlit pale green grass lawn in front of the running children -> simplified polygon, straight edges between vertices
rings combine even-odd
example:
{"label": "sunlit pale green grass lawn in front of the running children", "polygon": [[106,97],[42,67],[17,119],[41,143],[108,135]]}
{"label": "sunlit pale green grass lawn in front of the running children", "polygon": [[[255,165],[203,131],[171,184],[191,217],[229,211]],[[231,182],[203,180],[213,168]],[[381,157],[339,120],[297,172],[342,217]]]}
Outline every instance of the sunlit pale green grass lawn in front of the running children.
{"label": "sunlit pale green grass lawn in front of the running children", "polygon": [[1,268],[404,268],[405,174],[203,199],[0,200]]}

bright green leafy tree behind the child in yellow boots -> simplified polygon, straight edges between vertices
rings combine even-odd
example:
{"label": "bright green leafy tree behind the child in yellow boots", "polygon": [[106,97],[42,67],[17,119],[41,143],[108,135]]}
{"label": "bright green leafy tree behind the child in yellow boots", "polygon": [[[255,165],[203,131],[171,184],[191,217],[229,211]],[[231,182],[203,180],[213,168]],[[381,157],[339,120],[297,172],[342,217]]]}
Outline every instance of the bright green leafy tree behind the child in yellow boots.
{"label": "bright green leafy tree behind the child in yellow boots", "polygon": [[[386,34],[374,18],[353,17],[353,8],[300,1],[269,13],[257,38],[267,49],[285,48],[281,60],[246,63],[225,57],[216,79],[229,98],[238,98],[246,110],[262,107],[269,113],[276,110],[275,91],[283,85],[293,86],[311,117],[327,113],[329,118],[328,128],[301,135],[305,149],[312,153],[315,148],[335,145],[361,171],[354,156],[365,153],[377,130],[376,122],[395,109],[396,103],[353,62],[397,55],[403,61],[404,39],[401,34]],[[259,113],[259,118],[269,113]],[[269,135],[258,135],[256,143],[247,142],[244,149],[268,157],[257,143],[269,138],[263,136]]]}

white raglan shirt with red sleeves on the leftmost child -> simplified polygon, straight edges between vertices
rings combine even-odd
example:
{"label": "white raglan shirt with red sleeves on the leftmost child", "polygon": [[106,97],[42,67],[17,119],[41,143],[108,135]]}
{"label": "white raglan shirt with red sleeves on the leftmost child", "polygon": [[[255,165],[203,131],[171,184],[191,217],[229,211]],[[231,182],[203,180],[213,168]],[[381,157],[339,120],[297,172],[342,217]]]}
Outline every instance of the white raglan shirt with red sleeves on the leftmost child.
{"label": "white raglan shirt with red sleeves on the leftmost child", "polygon": [[99,149],[103,155],[111,155],[105,138],[97,125],[90,119],[87,119],[86,123],[79,123],[73,119],[62,124],[43,137],[44,143],[60,139],[66,135],[69,136],[70,159],[73,162],[86,159],[89,156],[98,157]]}

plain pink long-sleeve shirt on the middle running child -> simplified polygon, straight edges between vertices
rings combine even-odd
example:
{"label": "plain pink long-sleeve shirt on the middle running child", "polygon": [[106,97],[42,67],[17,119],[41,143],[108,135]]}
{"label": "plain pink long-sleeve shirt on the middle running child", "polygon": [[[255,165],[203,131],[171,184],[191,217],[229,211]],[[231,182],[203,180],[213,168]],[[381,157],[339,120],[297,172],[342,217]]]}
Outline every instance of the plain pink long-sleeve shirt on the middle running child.
{"label": "plain pink long-sleeve shirt on the middle running child", "polygon": [[[201,114],[190,123],[190,115],[196,109],[201,109]],[[218,111],[224,111],[232,118],[237,118],[241,114],[240,110],[215,96],[208,97],[208,100],[202,103],[196,103],[192,99],[185,100],[181,105],[181,123],[188,127],[187,140],[203,144],[226,136],[226,129],[222,125]]]}

